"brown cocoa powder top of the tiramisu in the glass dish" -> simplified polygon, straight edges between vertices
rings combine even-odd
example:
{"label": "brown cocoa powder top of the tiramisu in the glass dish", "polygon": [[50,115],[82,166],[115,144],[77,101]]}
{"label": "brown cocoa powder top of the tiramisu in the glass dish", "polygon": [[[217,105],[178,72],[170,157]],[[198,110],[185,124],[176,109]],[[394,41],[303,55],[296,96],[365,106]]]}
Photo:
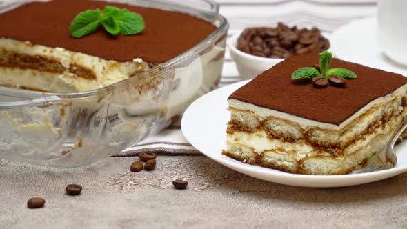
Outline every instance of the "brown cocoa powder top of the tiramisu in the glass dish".
{"label": "brown cocoa powder top of the tiramisu in the glass dish", "polygon": [[[114,37],[103,28],[88,37],[70,36],[72,19],[85,10],[106,6],[127,8],[143,16],[146,30]],[[141,58],[149,63],[168,61],[196,46],[216,30],[212,23],[179,12],[90,0],[54,0],[29,3],[0,14],[0,37],[60,47],[115,61]]]}

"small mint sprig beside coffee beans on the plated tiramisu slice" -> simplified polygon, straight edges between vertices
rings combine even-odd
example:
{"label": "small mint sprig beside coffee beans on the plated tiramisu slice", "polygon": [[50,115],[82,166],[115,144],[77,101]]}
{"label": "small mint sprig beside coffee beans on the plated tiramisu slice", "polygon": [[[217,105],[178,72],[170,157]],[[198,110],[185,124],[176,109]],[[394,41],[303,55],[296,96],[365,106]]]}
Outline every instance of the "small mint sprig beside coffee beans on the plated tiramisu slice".
{"label": "small mint sprig beside coffee beans on the plated tiramisu slice", "polygon": [[319,68],[321,72],[319,72],[316,68],[305,67],[299,68],[295,72],[292,73],[291,79],[293,81],[297,81],[299,79],[308,79],[312,77],[325,77],[328,79],[330,76],[335,75],[338,77],[343,77],[346,79],[357,79],[357,75],[345,68],[331,68],[330,63],[332,61],[332,53],[328,51],[324,51],[321,53],[321,57],[319,57]]}

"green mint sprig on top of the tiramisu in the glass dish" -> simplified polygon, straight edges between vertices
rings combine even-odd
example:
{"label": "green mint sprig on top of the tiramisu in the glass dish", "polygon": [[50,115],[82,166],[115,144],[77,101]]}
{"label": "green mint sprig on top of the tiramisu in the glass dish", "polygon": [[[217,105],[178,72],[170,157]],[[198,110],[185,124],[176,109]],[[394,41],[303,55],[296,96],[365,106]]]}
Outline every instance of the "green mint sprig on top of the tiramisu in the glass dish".
{"label": "green mint sprig on top of the tiramisu in the glass dish", "polygon": [[100,25],[115,36],[138,34],[146,28],[140,14],[115,6],[106,6],[103,11],[87,10],[78,14],[70,24],[70,34],[75,38],[86,37],[96,32]]}

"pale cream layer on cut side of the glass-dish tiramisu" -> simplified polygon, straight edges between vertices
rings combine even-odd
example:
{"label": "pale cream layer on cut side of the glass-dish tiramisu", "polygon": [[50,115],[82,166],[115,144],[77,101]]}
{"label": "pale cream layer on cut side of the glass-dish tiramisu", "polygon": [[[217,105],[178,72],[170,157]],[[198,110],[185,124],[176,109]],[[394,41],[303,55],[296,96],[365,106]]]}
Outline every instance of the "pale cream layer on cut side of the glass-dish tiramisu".
{"label": "pale cream layer on cut side of the glass-dish tiramisu", "polygon": [[[81,92],[103,88],[112,83],[127,79],[138,72],[149,69],[148,63],[141,59],[135,61],[117,62],[93,57],[80,52],[71,52],[63,48],[49,48],[34,45],[28,41],[15,41],[13,39],[0,38],[0,58],[2,54],[16,53],[32,57],[43,57],[65,68],[63,72],[46,72],[35,69],[19,69],[14,67],[0,66],[0,85],[19,88],[21,86],[33,90],[47,92]],[[90,70],[95,79],[72,74],[69,70],[80,66]],[[72,68],[71,68],[72,67]]]}

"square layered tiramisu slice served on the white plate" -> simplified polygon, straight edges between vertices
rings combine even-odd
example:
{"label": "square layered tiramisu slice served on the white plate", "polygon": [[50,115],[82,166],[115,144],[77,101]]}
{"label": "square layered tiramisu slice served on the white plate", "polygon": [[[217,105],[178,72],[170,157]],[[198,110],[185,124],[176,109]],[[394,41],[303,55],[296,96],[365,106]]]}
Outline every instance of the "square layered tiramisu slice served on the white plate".
{"label": "square layered tiramisu slice served on the white plate", "polygon": [[[319,58],[290,57],[230,95],[224,155],[286,172],[340,175],[386,146],[406,119],[407,78],[339,59],[328,72],[346,69],[357,79],[317,78],[312,72],[326,72],[312,67]],[[292,81],[301,68],[312,83]]]}

